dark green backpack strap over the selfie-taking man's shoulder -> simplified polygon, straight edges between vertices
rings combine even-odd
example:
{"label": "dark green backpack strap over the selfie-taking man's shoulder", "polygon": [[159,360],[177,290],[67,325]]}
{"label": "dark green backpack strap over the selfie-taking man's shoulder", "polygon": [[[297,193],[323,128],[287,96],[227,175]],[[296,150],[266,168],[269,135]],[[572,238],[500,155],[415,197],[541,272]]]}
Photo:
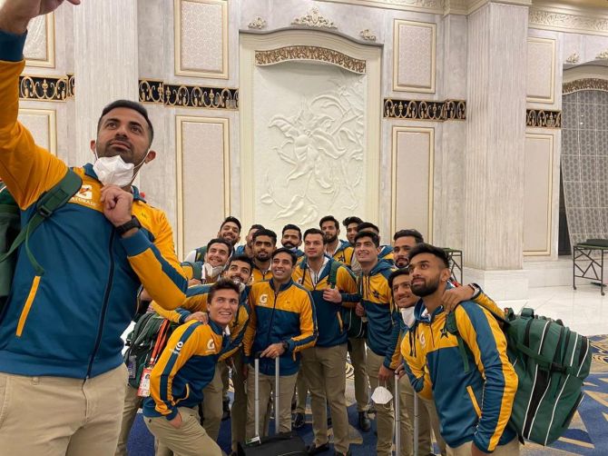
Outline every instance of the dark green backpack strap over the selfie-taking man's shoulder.
{"label": "dark green backpack strap over the selfie-taking man's shoulder", "polygon": [[28,242],[30,234],[34,233],[40,223],[43,223],[45,219],[54,213],[54,211],[67,203],[70,198],[80,190],[82,185],[83,180],[80,176],[68,168],[67,173],[65,173],[62,180],[55,183],[53,188],[43,193],[38,199],[36,202],[36,212],[30,221],[21,229],[21,232],[19,232],[19,235],[15,238],[15,241],[11,245],[11,248],[8,249],[8,252],[0,257],[0,263],[4,262],[6,258],[15,252],[19,245],[25,242],[25,253],[27,253],[27,258],[34,266],[36,275],[43,275],[44,268],[36,262],[34,254],[30,251]]}

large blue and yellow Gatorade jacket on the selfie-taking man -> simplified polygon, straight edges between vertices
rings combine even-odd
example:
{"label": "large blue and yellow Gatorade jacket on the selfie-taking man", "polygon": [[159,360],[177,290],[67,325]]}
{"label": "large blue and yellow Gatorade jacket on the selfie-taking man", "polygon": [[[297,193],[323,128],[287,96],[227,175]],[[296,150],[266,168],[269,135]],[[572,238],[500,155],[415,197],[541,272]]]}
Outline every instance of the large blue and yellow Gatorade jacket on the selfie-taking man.
{"label": "large blue and yellow Gatorade jacket on the selfie-taking man", "polygon": [[[40,195],[67,172],[17,122],[24,41],[25,35],[0,34],[0,178],[21,208],[22,225]],[[108,372],[123,363],[121,335],[135,315],[141,284],[167,308],[185,298],[187,283],[165,214],[133,188],[132,213],[142,229],[122,238],[103,215],[102,183],[93,166],[74,172],[83,179],[81,190],[29,239],[44,275],[34,272],[25,246],[19,249],[12,291],[0,312],[0,372],[80,379]]]}

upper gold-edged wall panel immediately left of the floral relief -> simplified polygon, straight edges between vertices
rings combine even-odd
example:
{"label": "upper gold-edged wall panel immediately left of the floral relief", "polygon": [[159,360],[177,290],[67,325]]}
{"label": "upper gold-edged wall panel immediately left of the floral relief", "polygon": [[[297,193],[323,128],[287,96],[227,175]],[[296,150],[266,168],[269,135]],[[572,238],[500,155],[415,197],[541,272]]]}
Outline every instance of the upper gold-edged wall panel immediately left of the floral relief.
{"label": "upper gold-edged wall panel immediately left of the floral relief", "polygon": [[174,0],[175,74],[228,78],[227,0]]}

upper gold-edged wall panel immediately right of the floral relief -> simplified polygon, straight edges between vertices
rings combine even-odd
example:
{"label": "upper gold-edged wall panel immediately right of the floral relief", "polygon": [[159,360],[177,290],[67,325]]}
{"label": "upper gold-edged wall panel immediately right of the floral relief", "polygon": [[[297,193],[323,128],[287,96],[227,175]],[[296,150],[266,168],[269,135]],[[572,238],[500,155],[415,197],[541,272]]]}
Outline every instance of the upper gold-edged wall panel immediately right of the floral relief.
{"label": "upper gold-edged wall panel immediately right of the floral relief", "polygon": [[393,90],[435,93],[436,25],[395,19]]}

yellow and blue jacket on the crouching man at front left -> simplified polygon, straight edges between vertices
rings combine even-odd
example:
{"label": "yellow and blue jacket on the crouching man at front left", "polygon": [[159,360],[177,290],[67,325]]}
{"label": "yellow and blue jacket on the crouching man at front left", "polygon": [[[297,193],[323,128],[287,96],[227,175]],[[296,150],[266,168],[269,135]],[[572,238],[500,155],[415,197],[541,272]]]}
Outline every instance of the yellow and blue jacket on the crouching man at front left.
{"label": "yellow and blue jacket on the crouching man at front left", "polygon": [[227,342],[228,337],[216,322],[191,321],[179,326],[152,368],[150,396],[143,401],[143,416],[172,420],[178,407],[200,404],[202,390],[213,379]]}

